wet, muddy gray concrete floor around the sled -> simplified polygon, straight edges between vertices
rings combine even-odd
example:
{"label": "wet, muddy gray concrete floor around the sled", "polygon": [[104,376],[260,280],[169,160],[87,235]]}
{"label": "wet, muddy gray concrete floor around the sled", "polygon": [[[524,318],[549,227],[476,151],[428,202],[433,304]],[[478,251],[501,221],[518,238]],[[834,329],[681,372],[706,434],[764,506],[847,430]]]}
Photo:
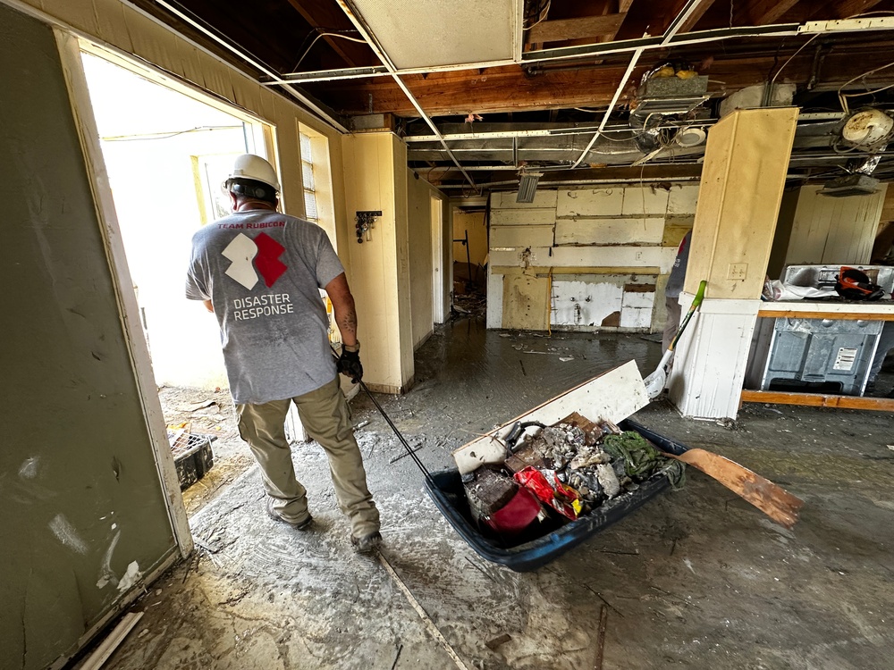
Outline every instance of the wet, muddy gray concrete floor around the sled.
{"label": "wet, muddy gray concrete floor around the sled", "polygon": [[[437,470],[494,424],[630,359],[648,373],[660,355],[637,335],[545,338],[466,319],[419,350],[407,395],[377,398]],[[313,530],[270,521],[249,467],[192,515],[204,549],[131,607],[145,616],[106,667],[894,666],[891,415],[749,405],[724,426],[654,403],[635,418],[803,498],[794,530],[690,469],[683,490],[519,574],[460,539],[368,398],[351,405],[381,558],[351,551],[325,456],[298,445]]]}

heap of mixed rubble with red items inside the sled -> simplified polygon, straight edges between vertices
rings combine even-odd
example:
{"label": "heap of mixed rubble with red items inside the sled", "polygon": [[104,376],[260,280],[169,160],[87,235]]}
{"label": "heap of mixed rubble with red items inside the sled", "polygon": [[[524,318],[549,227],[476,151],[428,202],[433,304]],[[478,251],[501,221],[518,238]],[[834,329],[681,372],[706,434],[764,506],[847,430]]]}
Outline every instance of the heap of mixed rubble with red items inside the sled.
{"label": "heap of mixed rubble with red items inside the sled", "polygon": [[478,528],[504,540],[538,526],[551,532],[653,477],[674,488],[684,480],[684,465],[638,432],[580,415],[553,426],[514,423],[493,439],[505,445],[505,460],[464,474],[463,484]]}

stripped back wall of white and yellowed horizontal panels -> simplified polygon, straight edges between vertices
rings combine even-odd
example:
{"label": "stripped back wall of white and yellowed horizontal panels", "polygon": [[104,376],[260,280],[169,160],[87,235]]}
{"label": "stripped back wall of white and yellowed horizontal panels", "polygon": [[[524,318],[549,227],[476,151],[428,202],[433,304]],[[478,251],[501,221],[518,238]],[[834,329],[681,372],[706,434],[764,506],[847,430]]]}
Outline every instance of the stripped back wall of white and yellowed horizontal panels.
{"label": "stripped back wall of white and yellowed horizontal panels", "polygon": [[487,327],[657,331],[698,186],[646,184],[491,200]]}

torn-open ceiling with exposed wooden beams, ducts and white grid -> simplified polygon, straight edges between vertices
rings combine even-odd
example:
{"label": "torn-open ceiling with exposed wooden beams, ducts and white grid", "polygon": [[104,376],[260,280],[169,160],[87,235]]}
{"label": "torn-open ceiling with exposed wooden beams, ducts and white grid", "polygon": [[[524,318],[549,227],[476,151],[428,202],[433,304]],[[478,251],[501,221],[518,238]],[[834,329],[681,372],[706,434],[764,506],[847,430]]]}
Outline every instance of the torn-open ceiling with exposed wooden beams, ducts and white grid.
{"label": "torn-open ceiling with exposed wooden beams, ducts and white grid", "polygon": [[872,155],[873,177],[894,178],[887,145],[839,143],[845,107],[894,108],[894,0],[131,2],[344,128],[396,131],[448,191],[511,188],[524,169],[544,184],[697,177],[733,94],[802,108],[791,179]]}

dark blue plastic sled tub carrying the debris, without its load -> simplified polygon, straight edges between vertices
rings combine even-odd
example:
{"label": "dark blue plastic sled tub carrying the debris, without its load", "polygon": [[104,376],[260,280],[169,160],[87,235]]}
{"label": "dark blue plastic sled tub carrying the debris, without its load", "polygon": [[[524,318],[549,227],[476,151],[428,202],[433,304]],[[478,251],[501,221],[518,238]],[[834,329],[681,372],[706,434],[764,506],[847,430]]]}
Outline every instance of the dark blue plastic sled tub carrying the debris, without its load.
{"label": "dark blue plastic sled tub carrying the debris, without its load", "polygon": [[[637,431],[655,447],[677,456],[687,450],[685,445],[659,435],[634,421],[623,421],[620,423],[620,428],[625,431]],[[425,486],[435,507],[441,511],[456,532],[460,533],[460,537],[475,549],[478,556],[523,573],[543,567],[612,523],[620,521],[669,488],[670,482],[663,475],[656,476],[642,482],[637,490],[603,503],[576,521],[512,547],[503,545],[500,540],[488,537],[477,529],[469,513],[460,473],[455,468],[432,473],[431,479],[426,479]]]}

